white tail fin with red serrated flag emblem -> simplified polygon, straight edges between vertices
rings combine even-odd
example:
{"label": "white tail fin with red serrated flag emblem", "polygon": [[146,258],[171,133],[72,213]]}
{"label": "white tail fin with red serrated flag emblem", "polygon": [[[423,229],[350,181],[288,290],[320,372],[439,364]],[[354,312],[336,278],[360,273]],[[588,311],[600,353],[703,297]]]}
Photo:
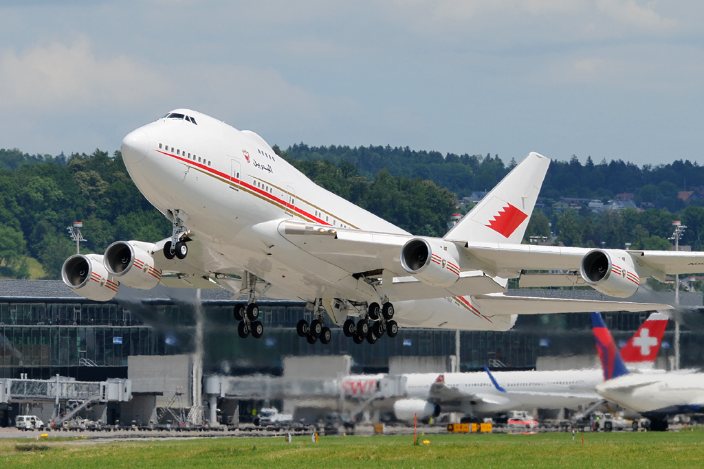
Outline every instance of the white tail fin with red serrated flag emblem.
{"label": "white tail fin with red serrated flag emblem", "polygon": [[549,158],[530,153],[448,231],[445,239],[520,243],[549,165]]}

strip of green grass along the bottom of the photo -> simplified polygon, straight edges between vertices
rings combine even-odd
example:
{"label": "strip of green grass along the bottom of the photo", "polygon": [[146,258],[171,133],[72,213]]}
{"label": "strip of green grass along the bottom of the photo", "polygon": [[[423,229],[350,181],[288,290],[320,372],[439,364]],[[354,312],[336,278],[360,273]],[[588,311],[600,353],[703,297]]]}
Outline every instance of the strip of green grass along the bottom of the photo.
{"label": "strip of green grass along the bottom of the photo", "polygon": [[704,432],[0,441],[0,468],[701,468]]}

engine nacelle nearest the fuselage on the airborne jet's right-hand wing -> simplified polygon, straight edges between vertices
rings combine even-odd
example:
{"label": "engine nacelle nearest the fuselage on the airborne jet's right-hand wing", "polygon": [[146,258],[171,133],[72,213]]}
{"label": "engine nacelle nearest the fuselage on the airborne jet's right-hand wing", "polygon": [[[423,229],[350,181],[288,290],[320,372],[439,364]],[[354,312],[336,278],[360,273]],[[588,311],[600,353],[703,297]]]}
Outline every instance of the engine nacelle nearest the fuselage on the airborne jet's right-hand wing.
{"label": "engine nacelle nearest the fuselage on the airborne jet's right-hand wing", "polygon": [[455,243],[431,238],[413,238],[401,248],[403,269],[436,287],[449,287],[460,278],[459,258]]}

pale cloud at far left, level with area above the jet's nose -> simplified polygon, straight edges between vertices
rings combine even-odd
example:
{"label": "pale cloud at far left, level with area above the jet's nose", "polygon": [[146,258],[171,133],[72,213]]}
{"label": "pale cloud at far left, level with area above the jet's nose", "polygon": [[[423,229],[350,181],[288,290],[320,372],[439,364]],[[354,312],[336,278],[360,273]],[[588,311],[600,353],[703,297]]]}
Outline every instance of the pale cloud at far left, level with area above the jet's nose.
{"label": "pale cloud at far left, level with area above the jet's nose", "polygon": [[125,107],[165,94],[163,75],[126,56],[99,58],[87,39],[0,51],[0,109],[71,112]]}

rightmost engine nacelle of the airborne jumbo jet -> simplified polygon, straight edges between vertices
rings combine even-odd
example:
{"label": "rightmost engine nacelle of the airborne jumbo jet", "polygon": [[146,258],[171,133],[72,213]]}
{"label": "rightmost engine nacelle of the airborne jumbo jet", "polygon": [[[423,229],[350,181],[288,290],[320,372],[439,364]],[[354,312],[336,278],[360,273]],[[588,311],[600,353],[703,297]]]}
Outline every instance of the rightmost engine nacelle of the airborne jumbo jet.
{"label": "rightmost engine nacelle of the airborne jumbo jet", "polygon": [[587,253],[579,273],[594,290],[612,297],[627,298],[638,290],[638,276],[631,255],[619,249],[595,249]]}

